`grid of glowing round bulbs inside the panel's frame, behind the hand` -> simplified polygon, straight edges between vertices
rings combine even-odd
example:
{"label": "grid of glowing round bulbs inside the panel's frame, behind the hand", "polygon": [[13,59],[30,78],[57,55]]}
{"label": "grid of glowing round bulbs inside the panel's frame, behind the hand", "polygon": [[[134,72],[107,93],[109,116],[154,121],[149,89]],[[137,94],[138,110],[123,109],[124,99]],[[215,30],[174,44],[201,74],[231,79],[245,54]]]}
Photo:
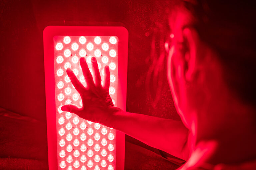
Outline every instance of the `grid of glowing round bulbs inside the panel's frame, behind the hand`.
{"label": "grid of glowing round bulbs inside the panel's frame, behind the hand", "polygon": [[82,106],[79,93],[67,76],[66,69],[86,86],[79,58],[85,57],[92,73],[91,57],[96,57],[99,71],[110,68],[109,93],[116,105],[118,38],[111,36],[55,36],[55,84],[58,169],[100,170],[115,169],[116,130],[79,118],[73,113],[61,111],[64,104]]}

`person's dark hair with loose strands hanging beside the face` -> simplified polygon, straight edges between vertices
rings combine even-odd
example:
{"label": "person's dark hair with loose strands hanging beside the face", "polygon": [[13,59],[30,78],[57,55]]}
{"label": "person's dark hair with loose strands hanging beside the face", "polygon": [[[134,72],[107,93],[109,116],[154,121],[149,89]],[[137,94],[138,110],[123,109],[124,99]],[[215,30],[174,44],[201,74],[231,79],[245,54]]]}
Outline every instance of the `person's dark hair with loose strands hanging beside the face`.
{"label": "person's dark hair with loose strands hanging beside the face", "polygon": [[[228,87],[243,101],[255,106],[256,12],[253,1],[179,0],[166,5],[167,14],[172,8],[179,8],[181,5],[195,18],[193,27],[200,39],[218,54]],[[166,18],[163,21],[168,22]],[[155,43],[157,39],[154,36],[152,41],[152,55],[157,56],[153,59],[155,63],[165,63],[163,56],[167,54],[163,48],[163,39],[168,35],[169,28],[166,28],[166,24],[161,24],[160,27],[157,30],[161,30],[162,34],[159,43]],[[151,71],[150,68],[149,73],[154,75],[157,72],[162,77],[158,65],[152,66],[155,70]]]}

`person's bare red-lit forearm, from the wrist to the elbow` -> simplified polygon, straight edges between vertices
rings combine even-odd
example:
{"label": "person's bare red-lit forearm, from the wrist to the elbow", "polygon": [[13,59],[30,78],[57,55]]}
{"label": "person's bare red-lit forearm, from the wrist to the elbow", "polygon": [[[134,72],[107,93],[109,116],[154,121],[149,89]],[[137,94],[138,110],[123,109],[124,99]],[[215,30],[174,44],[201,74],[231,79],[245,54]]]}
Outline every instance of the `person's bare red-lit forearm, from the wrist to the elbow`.
{"label": "person's bare red-lit forearm, from the wrist to the elbow", "polygon": [[188,158],[188,129],[181,121],[120,110],[106,124],[149,146],[184,160]]}

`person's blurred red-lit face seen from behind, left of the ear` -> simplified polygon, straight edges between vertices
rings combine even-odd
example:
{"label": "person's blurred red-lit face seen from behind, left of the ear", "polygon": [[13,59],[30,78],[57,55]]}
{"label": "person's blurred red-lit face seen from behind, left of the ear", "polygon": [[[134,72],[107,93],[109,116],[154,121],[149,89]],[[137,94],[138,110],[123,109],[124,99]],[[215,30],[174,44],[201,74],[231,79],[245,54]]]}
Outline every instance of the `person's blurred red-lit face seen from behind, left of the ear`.
{"label": "person's blurred red-lit face seen from behind, left of the ear", "polygon": [[169,18],[170,36],[165,48],[168,52],[167,78],[172,92],[175,107],[186,126],[191,125],[191,101],[186,84],[186,42],[184,29],[190,24],[189,14],[178,9]]}

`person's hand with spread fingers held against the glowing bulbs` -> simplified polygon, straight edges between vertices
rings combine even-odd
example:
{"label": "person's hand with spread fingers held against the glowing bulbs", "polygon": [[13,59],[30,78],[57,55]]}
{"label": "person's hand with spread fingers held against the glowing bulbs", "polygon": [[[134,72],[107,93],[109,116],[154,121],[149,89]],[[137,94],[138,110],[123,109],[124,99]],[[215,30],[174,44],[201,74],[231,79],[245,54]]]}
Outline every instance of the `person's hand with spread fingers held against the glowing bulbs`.
{"label": "person's hand with spread fingers held against the glowing bulbs", "polygon": [[67,69],[67,74],[72,84],[81,96],[83,106],[79,108],[72,104],[63,105],[61,110],[75,113],[79,117],[92,122],[106,124],[109,119],[111,119],[111,116],[121,109],[114,106],[109,95],[109,67],[105,66],[104,68],[105,76],[103,85],[101,85],[101,76],[96,58],[92,57],[91,62],[93,76],[88,68],[85,58],[80,58],[80,65],[87,87],[83,86],[70,68]]}

